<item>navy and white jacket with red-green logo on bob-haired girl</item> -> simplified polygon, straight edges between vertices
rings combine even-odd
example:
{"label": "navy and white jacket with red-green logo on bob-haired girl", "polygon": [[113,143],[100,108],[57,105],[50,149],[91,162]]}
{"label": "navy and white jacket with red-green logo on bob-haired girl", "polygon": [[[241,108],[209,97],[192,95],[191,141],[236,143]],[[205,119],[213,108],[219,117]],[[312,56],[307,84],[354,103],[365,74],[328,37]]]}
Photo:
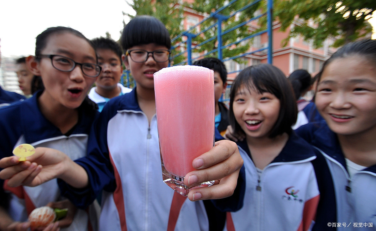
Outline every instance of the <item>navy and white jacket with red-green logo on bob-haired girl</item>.
{"label": "navy and white jacket with red-green logo on bob-haired girl", "polygon": [[227,214],[227,231],[334,230],[334,188],[320,153],[293,132],[279,155],[259,177],[246,141],[243,207]]}

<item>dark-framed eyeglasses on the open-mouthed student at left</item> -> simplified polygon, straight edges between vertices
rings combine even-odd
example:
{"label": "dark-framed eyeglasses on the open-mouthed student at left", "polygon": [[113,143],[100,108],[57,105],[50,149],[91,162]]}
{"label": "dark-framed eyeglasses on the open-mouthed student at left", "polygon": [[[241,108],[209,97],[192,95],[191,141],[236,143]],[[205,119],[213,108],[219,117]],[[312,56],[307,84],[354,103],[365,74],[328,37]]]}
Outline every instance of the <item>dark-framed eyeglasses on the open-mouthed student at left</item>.
{"label": "dark-framed eyeglasses on the open-mouthed student at left", "polygon": [[81,66],[82,73],[88,77],[97,77],[99,76],[100,71],[102,68],[94,63],[90,62],[83,62],[79,63],[74,61],[71,58],[62,56],[62,55],[38,55],[36,58],[49,58],[51,59],[52,66],[59,71],[69,72],[76,67],[76,65]]}

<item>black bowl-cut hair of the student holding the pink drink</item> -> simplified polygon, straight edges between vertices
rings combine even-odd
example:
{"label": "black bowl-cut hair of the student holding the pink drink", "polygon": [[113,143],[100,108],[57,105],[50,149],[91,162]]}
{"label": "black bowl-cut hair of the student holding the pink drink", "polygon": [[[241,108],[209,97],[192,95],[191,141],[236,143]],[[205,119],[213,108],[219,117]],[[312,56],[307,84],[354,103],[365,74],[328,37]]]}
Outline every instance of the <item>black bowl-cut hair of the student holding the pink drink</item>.
{"label": "black bowl-cut hair of the student holding the pink drink", "polygon": [[136,16],[124,27],[121,33],[123,52],[133,46],[155,43],[171,49],[170,33],[165,25],[155,17],[149,15]]}

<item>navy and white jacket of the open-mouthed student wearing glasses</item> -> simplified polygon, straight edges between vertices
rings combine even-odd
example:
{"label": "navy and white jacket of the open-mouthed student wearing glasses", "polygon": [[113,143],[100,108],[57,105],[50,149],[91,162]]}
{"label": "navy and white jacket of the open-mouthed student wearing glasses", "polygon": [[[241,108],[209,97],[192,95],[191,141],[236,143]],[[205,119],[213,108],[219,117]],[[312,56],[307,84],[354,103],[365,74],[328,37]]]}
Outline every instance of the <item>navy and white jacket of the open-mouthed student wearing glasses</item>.
{"label": "navy and white jacket of the open-mouthed student wearing glasses", "polygon": [[[73,128],[73,132],[66,136],[42,115],[37,103],[40,94],[41,92],[24,102],[0,109],[0,158],[12,156],[14,147],[22,143],[28,143],[34,147],[58,149],[72,160],[85,156],[90,126],[98,113],[88,114],[81,110],[78,124]],[[16,221],[26,221],[28,214],[34,208],[64,199],[60,195],[56,179],[36,187],[11,188],[3,183],[4,181],[1,181],[1,185],[4,186],[4,188],[1,187],[1,194],[5,195],[3,190],[12,192],[8,211]],[[92,222],[97,221],[92,220]],[[85,231],[91,228],[94,227],[91,224],[88,225],[86,211],[77,210],[73,223],[61,230]]]}

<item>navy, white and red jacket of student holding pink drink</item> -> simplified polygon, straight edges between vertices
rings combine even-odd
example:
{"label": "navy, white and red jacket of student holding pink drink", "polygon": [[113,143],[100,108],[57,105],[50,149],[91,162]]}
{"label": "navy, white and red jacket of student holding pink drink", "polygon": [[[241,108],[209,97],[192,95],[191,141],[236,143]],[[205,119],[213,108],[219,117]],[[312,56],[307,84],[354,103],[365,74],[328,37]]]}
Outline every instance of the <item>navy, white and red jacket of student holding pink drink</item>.
{"label": "navy, white and red jacket of student holding pink drink", "polygon": [[156,116],[149,125],[135,89],[106,103],[93,132],[88,156],[76,161],[90,187],[60,186],[81,207],[104,188],[100,230],[208,230],[203,202],[191,202],[163,182]]}

